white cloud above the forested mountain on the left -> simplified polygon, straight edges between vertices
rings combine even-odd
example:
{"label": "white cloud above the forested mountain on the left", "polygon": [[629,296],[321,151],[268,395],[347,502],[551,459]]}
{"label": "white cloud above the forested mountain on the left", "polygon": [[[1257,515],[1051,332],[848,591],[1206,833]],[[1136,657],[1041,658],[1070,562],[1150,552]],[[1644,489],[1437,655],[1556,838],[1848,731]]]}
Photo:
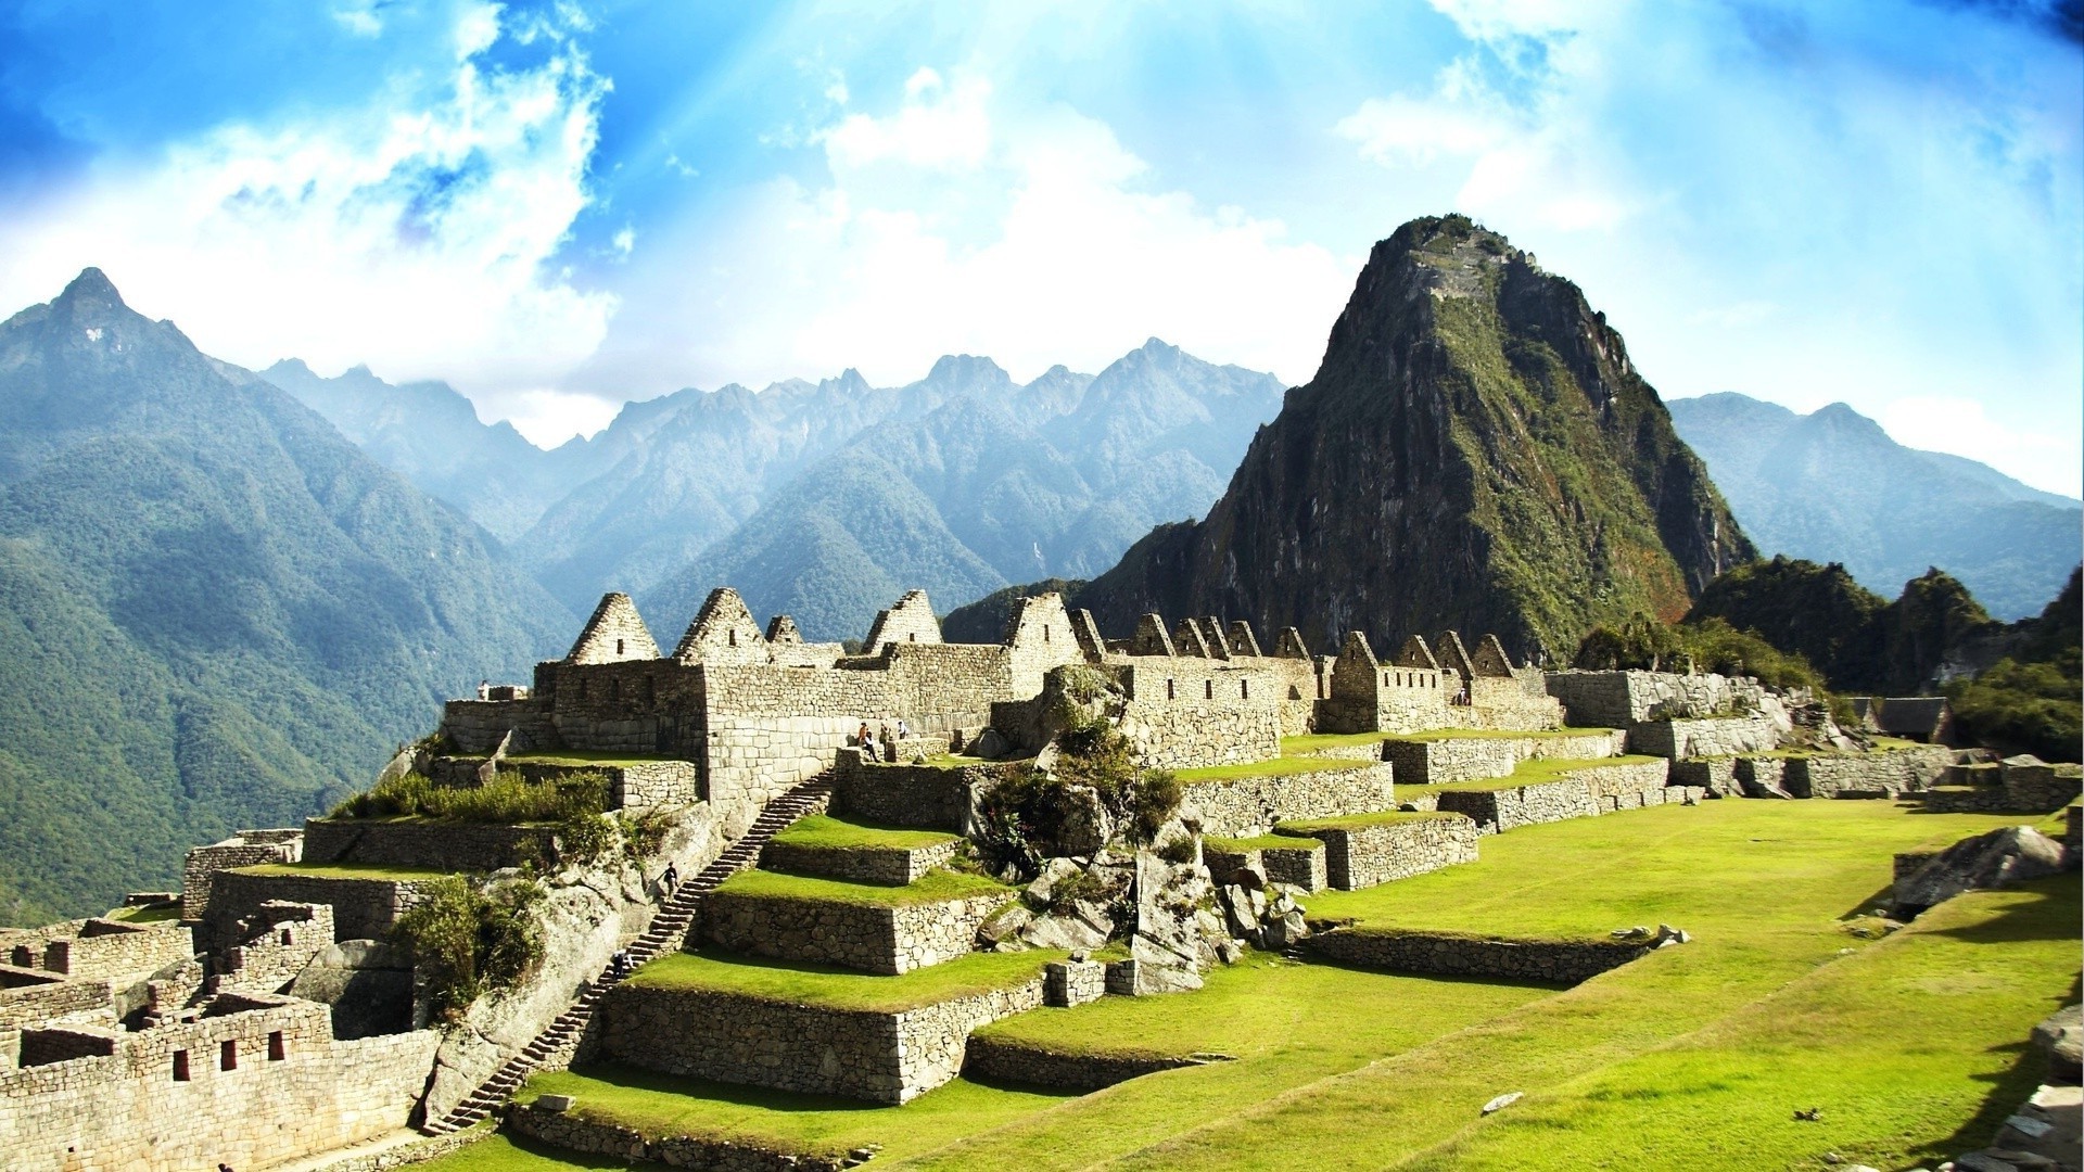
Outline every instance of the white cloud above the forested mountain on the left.
{"label": "white cloud above the forested mountain on the left", "polygon": [[615,309],[552,269],[588,204],[604,81],[569,42],[534,69],[486,67],[492,6],[450,29],[446,75],[396,77],[352,111],[219,125],[0,227],[0,300],[46,300],[98,265],[213,355],[446,377],[504,415],[504,394],[586,359]]}

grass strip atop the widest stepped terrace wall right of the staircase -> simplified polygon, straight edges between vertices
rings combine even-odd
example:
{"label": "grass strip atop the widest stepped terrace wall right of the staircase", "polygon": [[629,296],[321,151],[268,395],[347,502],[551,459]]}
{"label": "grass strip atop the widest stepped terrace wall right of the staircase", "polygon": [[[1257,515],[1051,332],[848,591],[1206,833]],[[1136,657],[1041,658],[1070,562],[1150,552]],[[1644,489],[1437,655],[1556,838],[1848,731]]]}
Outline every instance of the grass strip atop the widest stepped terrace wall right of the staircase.
{"label": "grass strip atop the widest stepped terrace wall right of the staircase", "polygon": [[1034,980],[1048,961],[1065,953],[969,953],[952,961],[915,968],[902,976],[873,976],[844,968],[773,961],[738,953],[673,953],[640,968],[627,984],[640,988],[721,988],[788,1005],[829,1005],[894,1014],[934,1001],[950,1001]]}

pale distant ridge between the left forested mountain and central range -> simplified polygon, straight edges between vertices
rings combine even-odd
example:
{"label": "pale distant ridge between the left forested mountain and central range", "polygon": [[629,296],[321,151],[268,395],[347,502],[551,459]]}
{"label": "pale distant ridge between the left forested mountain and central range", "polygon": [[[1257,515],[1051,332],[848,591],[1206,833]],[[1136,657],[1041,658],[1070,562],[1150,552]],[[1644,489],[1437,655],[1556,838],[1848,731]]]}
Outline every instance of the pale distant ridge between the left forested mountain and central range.
{"label": "pale distant ridge between the left forested mountain and central range", "polygon": [[504,419],[479,421],[471,400],[446,382],[392,386],[369,367],[319,377],[298,359],[283,359],[260,377],[500,540],[525,534],[552,500],[600,471],[586,440],[546,453]]}

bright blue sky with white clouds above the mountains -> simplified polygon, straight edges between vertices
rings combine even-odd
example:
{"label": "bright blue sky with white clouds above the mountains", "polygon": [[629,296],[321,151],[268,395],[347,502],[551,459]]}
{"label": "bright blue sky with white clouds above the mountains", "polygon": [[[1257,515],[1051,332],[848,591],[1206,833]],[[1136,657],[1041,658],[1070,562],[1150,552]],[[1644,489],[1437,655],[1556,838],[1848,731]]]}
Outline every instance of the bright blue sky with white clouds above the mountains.
{"label": "bright blue sky with white clouds above the mountains", "polygon": [[2084,480],[2084,4],[0,0],[0,313],[631,398],[1146,338],[1311,377],[1461,211],[1665,398]]}

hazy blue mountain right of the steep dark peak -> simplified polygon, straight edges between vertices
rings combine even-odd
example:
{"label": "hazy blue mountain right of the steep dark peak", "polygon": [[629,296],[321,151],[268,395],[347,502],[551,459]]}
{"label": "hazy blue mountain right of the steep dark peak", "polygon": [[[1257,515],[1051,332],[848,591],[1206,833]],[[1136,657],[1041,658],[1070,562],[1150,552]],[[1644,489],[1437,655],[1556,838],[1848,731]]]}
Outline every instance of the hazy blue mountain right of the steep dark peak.
{"label": "hazy blue mountain right of the steep dark peak", "polygon": [[1936,565],[2017,619],[2038,613],[2084,557],[2084,503],[1905,448],[1842,402],[1796,415],[1709,394],[1673,400],[1671,423],[1761,551],[1844,563],[1882,594]]}

